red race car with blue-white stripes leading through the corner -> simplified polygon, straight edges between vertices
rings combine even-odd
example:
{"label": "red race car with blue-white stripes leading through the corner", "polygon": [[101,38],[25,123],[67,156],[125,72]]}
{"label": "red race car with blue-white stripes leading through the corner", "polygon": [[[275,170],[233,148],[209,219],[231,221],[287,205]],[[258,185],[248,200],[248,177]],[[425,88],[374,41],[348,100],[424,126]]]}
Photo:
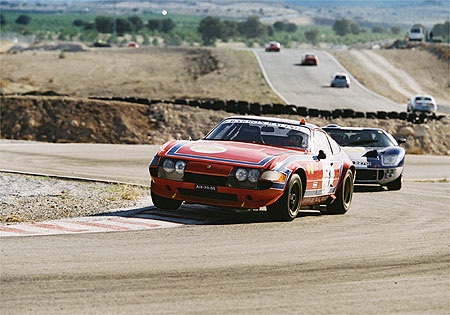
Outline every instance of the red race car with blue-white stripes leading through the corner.
{"label": "red race car with blue-white stripes leading through the corner", "polygon": [[169,141],[149,165],[156,207],[183,201],[232,208],[267,207],[273,220],[293,220],[301,206],[343,214],[355,167],[321,128],[287,119],[235,116],[198,141]]}

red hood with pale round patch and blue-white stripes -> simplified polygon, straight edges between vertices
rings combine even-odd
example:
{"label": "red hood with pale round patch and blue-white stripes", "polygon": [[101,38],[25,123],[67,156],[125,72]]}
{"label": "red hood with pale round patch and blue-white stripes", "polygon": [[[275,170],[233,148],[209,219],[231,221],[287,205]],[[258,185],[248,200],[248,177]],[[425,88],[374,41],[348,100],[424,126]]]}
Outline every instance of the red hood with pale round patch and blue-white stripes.
{"label": "red hood with pale round patch and blue-white stripes", "polygon": [[158,155],[248,167],[264,167],[273,159],[290,153],[302,154],[304,151],[294,151],[254,143],[199,140],[177,141],[166,144]]}

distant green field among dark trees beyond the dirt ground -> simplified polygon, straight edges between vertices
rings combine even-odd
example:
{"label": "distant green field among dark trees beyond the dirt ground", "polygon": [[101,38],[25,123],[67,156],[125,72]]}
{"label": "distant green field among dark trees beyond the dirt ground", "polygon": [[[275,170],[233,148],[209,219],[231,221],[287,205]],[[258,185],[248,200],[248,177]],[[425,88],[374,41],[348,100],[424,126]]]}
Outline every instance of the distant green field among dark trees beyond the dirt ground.
{"label": "distant green field among dark trees beyond the dirt ground", "polygon": [[[17,24],[16,19],[25,14],[31,18],[26,25]],[[112,36],[111,34],[100,34],[95,29],[85,30],[82,26],[77,27],[73,24],[75,20],[81,20],[85,23],[94,22],[97,15],[94,14],[67,14],[67,13],[23,13],[23,12],[2,12],[5,24],[1,26],[2,34],[21,34],[36,35],[38,40],[80,40],[84,42],[93,42],[99,38],[109,38],[110,41],[120,43],[125,39]],[[128,18],[132,15],[120,15],[116,18]],[[160,14],[139,14],[141,20],[147,23],[151,19],[165,19],[167,17]],[[182,45],[182,44],[201,44],[201,35],[197,32],[197,26],[204,18],[202,16],[193,15],[170,15],[175,23],[175,28],[169,33],[161,33],[158,31],[150,31],[147,27],[143,27],[135,34],[129,34],[133,39],[139,38],[141,44],[149,45],[152,38],[161,37],[166,45]],[[373,33],[371,30],[363,30],[358,35],[350,34],[345,36],[337,36],[330,26],[301,26],[295,32],[279,31],[273,35],[262,35],[257,38],[245,38],[243,36],[234,36],[231,41],[244,42],[248,46],[255,43],[263,45],[270,40],[281,42],[285,47],[292,47],[295,43],[305,43],[308,40],[305,32],[310,29],[319,30],[318,42],[331,44],[346,44],[373,42],[381,39],[401,39],[402,35],[394,35],[389,30],[382,33]],[[139,36],[140,35],[140,36]],[[155,44],[155,42],[153,42]]]}

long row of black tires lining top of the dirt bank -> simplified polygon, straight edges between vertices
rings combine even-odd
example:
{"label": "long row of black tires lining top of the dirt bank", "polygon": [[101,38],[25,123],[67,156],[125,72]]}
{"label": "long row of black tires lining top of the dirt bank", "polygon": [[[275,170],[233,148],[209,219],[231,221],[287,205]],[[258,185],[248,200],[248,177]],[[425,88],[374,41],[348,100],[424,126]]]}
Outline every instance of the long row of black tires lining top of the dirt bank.
{"label": "long row of black tires lining top of the dirt bank", "polygon": [[[53,91],[46,92],[27,92],[22,94],[1,94],[1,95],[45,95],[45,96],[66,96],[64,94],[57,94]],[[149,99],[149,98],[139,98],[139,97],[96,97],[91,96],[89,99],[103,100],[103,101],[120,101],[129,103],[138,103],[144,105],[152,105],[157,103],[167,103],[167,104],[177,104],[186,105],[193,107],[200,107],[209,110],[225,110],[229,113],[240,114],[240,115],[298,115],[302,117],[321,117],[325,119],[331,118],[368,118],[368,119],[399,119],[406,120],[415,124],[426,123],[431,120],[441,120],[448,115],[436,115],[436,113],[407,113],[407,112],[359,112],[350,108],[344,109],[334,109],[334,110],[323,110],[316,108],[307,108],[305,106],[297,106],[294,104],[261,104],[258,102],[250,103],[243,100],[220,100],[220,99],[185,99],[178,98],[173,101],[164,99]]]}

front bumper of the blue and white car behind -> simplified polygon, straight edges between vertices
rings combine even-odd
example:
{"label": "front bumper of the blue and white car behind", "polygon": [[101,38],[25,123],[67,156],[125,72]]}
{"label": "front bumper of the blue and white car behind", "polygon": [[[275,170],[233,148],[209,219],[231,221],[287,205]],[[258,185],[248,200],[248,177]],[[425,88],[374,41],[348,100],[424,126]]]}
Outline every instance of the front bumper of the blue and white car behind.
{"label": "front bumper of the blue and white car behind", "polygon": [[355,184],[380,184],[386,185],[403,173],[403,166],[400,167],[356,167]]}

